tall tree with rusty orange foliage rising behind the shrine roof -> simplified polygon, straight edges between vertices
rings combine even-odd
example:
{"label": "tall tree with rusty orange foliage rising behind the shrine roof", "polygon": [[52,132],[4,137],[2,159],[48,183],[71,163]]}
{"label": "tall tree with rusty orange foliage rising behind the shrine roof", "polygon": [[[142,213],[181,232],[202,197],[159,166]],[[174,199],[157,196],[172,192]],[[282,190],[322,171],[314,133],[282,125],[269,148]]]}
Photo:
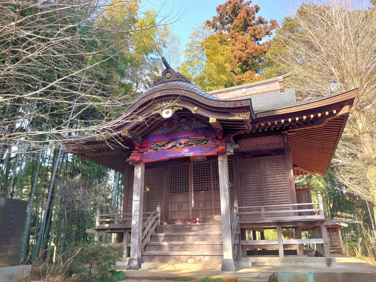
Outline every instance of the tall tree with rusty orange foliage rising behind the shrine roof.
{"label": "tall tree with rusty orange foliage rising behind the shrine roof", "polygon": [[[217,15],[212,20],[206,21],[206,26],[231,43],[231,54],[236,64],[232,72],[237,85],[262,79],[260,72],[265,64],[270,36],[278,27],[276,20],[267,21],[257,16],[260,7],[251,6],[251,3],[251,0],[228,0],[218,5]],[[265,40],[267,36],[269,38]]]}

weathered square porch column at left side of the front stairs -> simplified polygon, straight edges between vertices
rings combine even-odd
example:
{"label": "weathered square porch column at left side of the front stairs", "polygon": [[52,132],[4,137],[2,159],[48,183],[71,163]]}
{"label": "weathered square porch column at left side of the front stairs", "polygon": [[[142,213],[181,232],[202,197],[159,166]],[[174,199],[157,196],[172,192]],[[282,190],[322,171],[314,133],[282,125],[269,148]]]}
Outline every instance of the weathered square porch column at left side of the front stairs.
{"label": "weathered square porch column at left side of the front stairs", "polygon": [[138,164],[135,164],[132,200],[132,231],[130,236],[130,257],[127,264],[127,270],[140,269],[142,263],[141,240],[143,227],[144,178],[145,164],[139,162]]}

